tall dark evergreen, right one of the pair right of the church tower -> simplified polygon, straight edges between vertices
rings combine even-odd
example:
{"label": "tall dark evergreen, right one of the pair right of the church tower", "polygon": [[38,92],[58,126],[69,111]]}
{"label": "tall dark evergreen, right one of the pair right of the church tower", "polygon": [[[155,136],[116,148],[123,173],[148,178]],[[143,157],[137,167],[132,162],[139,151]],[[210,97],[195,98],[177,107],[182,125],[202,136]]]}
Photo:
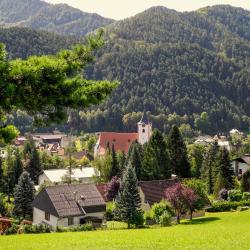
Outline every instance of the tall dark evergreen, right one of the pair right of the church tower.
{"label": "tall dark evergreen, right one of the pair right of the church tower", "polygon": [[191,176],[191,167],[188,161],[187,148],[177,126],[174,126],[168,136],[168,151],[170,166],[180,178]]}

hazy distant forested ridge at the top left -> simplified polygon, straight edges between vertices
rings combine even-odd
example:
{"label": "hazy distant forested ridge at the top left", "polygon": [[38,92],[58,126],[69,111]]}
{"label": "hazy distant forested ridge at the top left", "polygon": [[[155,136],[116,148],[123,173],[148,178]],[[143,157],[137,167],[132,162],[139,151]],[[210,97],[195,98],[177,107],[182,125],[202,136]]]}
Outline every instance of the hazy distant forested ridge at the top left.
{"label": "hazy distant forested ridge at the top left", "polygon": [[0,0],[0,24],[83,36],[113,20],[82,12],[66,4],[40,0]]}

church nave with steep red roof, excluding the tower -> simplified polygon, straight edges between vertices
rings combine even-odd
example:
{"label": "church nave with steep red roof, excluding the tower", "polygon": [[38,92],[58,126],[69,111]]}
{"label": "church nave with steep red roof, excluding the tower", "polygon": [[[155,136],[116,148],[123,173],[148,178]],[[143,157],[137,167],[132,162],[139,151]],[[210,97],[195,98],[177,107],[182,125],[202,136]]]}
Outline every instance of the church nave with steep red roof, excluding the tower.
{"label": "church nave with steep red roof, excluding the tower", "polygon": [[98,155],[105,154],[108,143],[110,148],[114,144],[115,151],[121,151],[127,154],[131,144],[136,140],[138,140],[138,133],[103,132],[100,134],[98,141]]}

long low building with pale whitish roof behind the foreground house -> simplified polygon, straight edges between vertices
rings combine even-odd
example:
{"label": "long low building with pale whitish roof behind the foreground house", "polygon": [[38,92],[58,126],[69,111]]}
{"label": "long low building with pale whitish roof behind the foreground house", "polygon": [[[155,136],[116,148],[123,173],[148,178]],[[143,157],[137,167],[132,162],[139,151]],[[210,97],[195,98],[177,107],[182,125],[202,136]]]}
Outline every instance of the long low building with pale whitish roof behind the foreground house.
{"label": "long low building with pale whitish roof behind the foreground house", "polygon": [[68,169],[44,170],[39,176],[38,185],[40,186],[44,182],[60,184],[66,178],[71,178],[72,182],[77,181],[79,183],[91,183],[93,182],[93,178],[99,175],[93,167],[72,168],[71,176],[69,176],[69,173]]}

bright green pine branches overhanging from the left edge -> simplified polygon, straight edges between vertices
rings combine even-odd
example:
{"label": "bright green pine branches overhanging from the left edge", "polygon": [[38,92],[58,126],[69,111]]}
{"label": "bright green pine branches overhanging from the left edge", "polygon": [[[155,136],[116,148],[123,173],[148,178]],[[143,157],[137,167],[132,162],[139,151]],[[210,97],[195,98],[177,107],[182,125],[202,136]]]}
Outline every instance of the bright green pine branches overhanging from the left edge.
{"label": "bright green pine branches overhanging from the left edge", "polygon": [[[99,104],[117,83],[86,80],[81,71],[93,61],[93,51],[103,45],[102,35],[100,31],[90,36],[86,45],[75,46],[55,56],[31,56],[26,60],[8,61],[1,46],[1,74],[4,77],[0,85],[0,112],[6,115],[20,109],[32,116],[35,124],[48,125],[65,121],[68,108]],[[1,141],[9,140],[9,134],[13,134],[13,127],[7,125],[0,127],[3,131],[8,128],[0,137]]]}

